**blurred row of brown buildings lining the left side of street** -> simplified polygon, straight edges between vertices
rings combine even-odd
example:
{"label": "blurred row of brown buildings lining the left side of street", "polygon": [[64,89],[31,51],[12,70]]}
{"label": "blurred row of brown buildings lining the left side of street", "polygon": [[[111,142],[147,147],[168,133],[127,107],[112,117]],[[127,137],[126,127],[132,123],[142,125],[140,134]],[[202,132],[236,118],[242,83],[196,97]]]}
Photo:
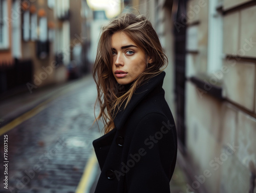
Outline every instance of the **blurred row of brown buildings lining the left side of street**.
{"label": "blurred row of brown buildings lining the left side of street", "polygon": [[1,0],[0,94],[64,82],[74,66],[85,73],[90,14],[84,12],[90,13],[86,1]]}

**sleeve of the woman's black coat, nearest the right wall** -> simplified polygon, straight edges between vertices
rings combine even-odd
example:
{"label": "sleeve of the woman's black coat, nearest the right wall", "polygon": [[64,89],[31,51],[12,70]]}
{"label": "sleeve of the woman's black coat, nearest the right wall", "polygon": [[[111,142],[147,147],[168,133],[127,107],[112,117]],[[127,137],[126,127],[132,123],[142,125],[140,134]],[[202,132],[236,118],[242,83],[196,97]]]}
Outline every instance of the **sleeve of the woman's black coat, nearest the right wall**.
{"label": "sleeve of the woman's black coat, nearest the right wall", "polygon": [[147,114],[140,120],[127,157],[126,186],[129,193],[169,193],[177,157],[173,117]]}

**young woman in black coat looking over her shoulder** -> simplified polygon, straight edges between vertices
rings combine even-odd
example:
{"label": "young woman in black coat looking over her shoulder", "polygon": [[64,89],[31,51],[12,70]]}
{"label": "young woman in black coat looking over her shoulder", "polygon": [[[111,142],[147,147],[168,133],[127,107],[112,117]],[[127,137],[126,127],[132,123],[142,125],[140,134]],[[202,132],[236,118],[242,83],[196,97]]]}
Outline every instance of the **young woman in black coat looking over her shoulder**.
{"label": "young woman in black coat looking over her shoulder", "polygon": [[93,76],[105,135],[93,141],[95,193],[170,192],[177,135],[162,89],[166,62],[144,16],[126,13],[102,28]]}

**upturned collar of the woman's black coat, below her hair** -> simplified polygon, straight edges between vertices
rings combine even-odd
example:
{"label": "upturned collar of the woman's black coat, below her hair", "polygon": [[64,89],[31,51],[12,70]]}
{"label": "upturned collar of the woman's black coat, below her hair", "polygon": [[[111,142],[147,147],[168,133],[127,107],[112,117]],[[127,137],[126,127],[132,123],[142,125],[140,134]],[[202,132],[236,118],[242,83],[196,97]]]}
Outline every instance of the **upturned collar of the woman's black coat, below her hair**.
{"label": "upturned collar of the woman's black coat, below her hair", "polygon": [[131,101],[126,106],[126,109],[118,112],[114,119],[114,123],[115,123],[117,130],[119,130],[122,127],[122,125],[126,121],[127,117],[134,110],[135,106],[137,106],[137,104],[143,98],[145,98],[145,96],[148,95],[148,93],[153,91],[159,84],[161,84],[159,86],[162,87],[164,76],[165,76],[165,72],[161,72],[159,75],[151,78],[146,83],[141,85],[141,87],[139,87],[135,91],[135,94],[132,96]]}

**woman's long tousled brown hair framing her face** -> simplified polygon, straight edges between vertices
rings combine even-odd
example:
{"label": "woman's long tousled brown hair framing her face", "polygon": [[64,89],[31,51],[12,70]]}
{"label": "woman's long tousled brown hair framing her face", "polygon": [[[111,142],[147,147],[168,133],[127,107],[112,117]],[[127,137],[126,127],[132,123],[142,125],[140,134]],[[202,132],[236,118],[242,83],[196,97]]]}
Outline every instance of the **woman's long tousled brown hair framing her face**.
{"label": "woman's long tousled brown hair framing her face", "polygon": [[[150,56],[153,59],[152,63],[146,62],[145,71],[135,79],[129,89],[124,89],[123,85],[118,84],[112,74],[111,38],[116,32],[124,32],[144,51],[146,57]],[[102,118],[105,134],[115,127],[116,113],[126,108],[135,90],[146,80],[160,74],[163,71],[161,70],[162,67],[167,65],[167,61],[158,35],[145,16],[124,13],[113,18],[101,28],[96,60],[93,66],[93,78],[98,91],[96,103],[98,102],[100,106],[100,113],[95,121]]]}

